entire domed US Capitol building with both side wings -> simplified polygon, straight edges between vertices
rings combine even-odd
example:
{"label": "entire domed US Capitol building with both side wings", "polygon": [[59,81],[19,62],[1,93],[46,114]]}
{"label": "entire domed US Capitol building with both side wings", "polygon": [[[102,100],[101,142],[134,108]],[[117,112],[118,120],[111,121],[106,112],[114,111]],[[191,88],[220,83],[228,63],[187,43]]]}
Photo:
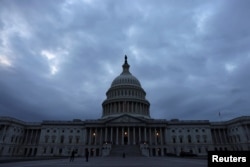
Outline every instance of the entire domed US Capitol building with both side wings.
{"label": "entire domed US Capitol building with both side wings", "polygon": [[23,122],[0,117],[0,157],[168,156],[213,150],[250,150],[250,116],[228,121],[150,117],[150,103],[129,71],[127,56],[96,120]]}

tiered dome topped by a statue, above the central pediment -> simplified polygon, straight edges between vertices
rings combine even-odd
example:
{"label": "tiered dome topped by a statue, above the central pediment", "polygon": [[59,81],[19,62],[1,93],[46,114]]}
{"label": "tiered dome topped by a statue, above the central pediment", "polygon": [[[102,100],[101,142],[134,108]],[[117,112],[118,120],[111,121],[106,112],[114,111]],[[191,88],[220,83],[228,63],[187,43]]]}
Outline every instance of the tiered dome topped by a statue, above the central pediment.
{"label": "tiered dome topped by a statue, above the central pediment", "polygon": [[140,81],[129,71],[127,56],[122,65],[122,73],[116,77],[106,92],[107,99],[102,103],[102,118],[129,114],[136,117],[150,118],[150,103]]}

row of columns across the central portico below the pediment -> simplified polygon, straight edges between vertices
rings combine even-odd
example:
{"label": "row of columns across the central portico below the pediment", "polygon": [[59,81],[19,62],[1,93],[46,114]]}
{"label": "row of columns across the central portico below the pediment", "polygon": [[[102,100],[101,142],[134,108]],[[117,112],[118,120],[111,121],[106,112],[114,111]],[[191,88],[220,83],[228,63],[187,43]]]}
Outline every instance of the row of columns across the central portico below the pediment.
{"label": "row of columns across the central portico below the pediment", "polygon": [[163,128],[148,127],[105,127],[88,128],[86,141],[88,144],[103,144],[105,142],[116,145],[138,144],[146,142],[150,145],[162,145]]}

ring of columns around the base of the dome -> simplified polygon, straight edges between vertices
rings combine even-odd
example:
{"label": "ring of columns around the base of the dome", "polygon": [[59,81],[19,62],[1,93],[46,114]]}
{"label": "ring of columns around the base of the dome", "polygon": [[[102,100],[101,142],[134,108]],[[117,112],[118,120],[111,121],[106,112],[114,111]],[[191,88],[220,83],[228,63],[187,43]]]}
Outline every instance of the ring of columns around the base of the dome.
{"label": "ring of columns around the base of the dome", "polygon": [[122,112],[131,112],[131,113],[140,113],[148,114],[149,106],[140,102],[112,102],[105,104],[103,107],[104,114],[110,113],[122,113]]}

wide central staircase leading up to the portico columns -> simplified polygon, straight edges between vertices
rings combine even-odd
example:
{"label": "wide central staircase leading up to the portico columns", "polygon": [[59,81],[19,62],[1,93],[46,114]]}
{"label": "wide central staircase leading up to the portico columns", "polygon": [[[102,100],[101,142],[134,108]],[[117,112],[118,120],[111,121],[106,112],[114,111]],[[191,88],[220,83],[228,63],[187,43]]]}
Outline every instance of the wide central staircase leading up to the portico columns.
{"label": "wide central staircase leading up to the portico columns", "polygon": [[141,156],[140,148],[138,145],[113,145],[110,156],[122,157],[123,153],[125,153],[126,157]]}

